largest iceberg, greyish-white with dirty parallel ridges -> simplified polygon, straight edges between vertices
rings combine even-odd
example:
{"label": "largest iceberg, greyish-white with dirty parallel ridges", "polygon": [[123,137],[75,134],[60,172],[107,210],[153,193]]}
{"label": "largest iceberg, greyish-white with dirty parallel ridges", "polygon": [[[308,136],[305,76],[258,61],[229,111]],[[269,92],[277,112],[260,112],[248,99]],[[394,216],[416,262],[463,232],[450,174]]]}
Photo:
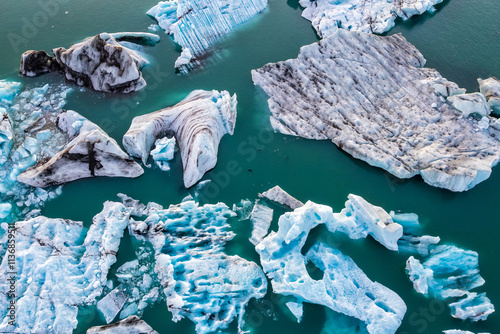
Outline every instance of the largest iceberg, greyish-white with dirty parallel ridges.
{"label": "largest iceberg, greyish-white with dirty parallel ridges", "polygon": [[401,35],[340,29],[252,77],[270,97],[276,131],[329,139],[399,178],[468,190],[500,158],[498,124],[464,117],[446,100],[463,90],[424,63]]}

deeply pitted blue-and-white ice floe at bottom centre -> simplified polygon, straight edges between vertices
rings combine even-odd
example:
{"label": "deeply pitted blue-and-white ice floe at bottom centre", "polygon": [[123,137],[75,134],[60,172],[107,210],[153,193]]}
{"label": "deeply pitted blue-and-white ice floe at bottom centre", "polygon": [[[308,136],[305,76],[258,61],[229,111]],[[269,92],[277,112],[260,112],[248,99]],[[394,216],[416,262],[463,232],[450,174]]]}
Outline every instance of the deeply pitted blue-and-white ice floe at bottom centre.
{"label": "deeply pitted blue-and-white ice floe at bottom centre", "polygon": [[173,321],[187,317],[203,334],[224,329],[237,317],[241,329],[246,304],[266,294],[267,280],[254,262],[223,252],[235,236],[228,219],[236,214],[223,203],[186,200],[164,209],[122,199],[134,209],[131,235],[153,248]]}

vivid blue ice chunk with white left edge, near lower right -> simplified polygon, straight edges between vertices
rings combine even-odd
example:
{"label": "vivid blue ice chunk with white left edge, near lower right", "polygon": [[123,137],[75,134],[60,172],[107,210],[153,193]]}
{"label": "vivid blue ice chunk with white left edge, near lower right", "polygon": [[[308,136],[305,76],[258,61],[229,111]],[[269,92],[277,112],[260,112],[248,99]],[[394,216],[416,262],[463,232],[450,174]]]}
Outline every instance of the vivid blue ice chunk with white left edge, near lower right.
{"label": "vivid blue ice chunk with white left edge, near lower right", "polygon": [[484,284],[478,254],[451,245],[434,248],[423,264],[410,257],[406,270],[417,292],[441,299],[461,297]]}

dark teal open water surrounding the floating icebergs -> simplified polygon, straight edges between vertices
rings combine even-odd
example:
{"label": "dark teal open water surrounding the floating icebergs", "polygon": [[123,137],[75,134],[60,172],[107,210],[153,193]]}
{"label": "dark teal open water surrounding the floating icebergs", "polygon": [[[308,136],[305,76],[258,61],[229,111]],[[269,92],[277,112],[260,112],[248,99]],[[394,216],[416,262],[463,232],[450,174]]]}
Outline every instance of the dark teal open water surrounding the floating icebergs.
{"label": "dark teal open water surrounding the floating icebergs", "polygon": [[[47,2],[50,1],[44,3]],[[52,8],[53,15],[43,20],[41,2],[0,0],[0,78],[20,81],[24,87],[60,83],[57,75],[35,79],[18,77],[21,53],[27,49],[67,47],[103,31],[147,31],[153,20],[145,12],[156,2],[60,0],[60,8]],[[204,178],[214,180],[202,193],[204,201],[232,205],[242,198],[255,199],[259,192],[279,184],[302,201],[327,204],[335,211],[344,207],[349,193],[354,193],[388,211],[415,212],[426,234],[438,235],[442,242],[479,253],[481,274],[486,280],[481,291],[487,292],[493,304],[500,305],[498,167],[487,181],[466,193],[456,194],[428,186],[418,178],[395,179],[351,158],[330,142],[296,139],[270,131],[266,96],[253,86],[250,70],[268,62],[295,58],[301,46],[317,41],[312,26],[300,14],[298,1],[271,0],[263,14],[216,46],[217,50],[224,51],[218,52],[213,63],[185,76],[176,75],[173,70],[179,48],[169,36],[159,32],[161,42],[148,49],[152,63],[144,71],[148,86],[143,91],[113,96],[75,89],[68,97],[67,108],[101,125],[121,142],[134,116],[173,105],[194,89],[225,89],[236,93],[239,104],[235,134],[222,139],[218,165]],[[478,77],[500,76],[499,17],[498,0],[445,0],[437,13],[399,22],[390,34],[402,33],[423,53],[429,67],[436,68],[468,91],[475,91]],[[29,31],[26,27],[34,21],[39,27]],[[12,34],[23,40],[17,39],[18,43],[13,46],[9,40]],[[258,150],[251,147],[251,137],[257,138]],[[239,173],[226,180],[227,164],[231,161],[240,167]],[[63,195],[49,202],[42,214],[82,220],[89,226],[92,217],[102,209],[102,203],[117,200],[119,192],[142,202],[155,201],[167,206],[179,203],[192,191],[183,187],[182,166],[177,156],[169,173],[146,169],[143,176],[134,180],[100,178],[67,184]],[[234,221],[233,227],[237,237],[228,245],[227,252],[258,262],[248,241],[248,222]],[[332,239],[323,232],[315,229],[310,238],[338,246],[368,277],[404,299],[408,311],[399,333],[440,333],[453,328],[476,333],[500,332],[498,314],[485,322],[463,322],[451,318],[447,306],[417,294],[404,271],[407,256],[385,250],[371,239]],[[130,246],[131,241],[125,237],[113,269],[133,258]],[[251,302],[246,320],[252,332],[322,332],[326,320],[323,307],[306,305],[304,319],[297,324],[283,311],[284,302],[272,293],[262,301]],[[425,310],[427,313],[422,313]],[[160,333],[194,333],[194,325],[188,320],[173,323],[165,305],[148,308],[143,318]],[[357,323],[347,317],[341,316],[333,323],[339,325],[330,328],[328,333],[356,332]],[[82,309],[76,332],[84,333],[89,326],[100,324],[103,320],[93,308]],[[235,331],[233,324],[226,332]]]}

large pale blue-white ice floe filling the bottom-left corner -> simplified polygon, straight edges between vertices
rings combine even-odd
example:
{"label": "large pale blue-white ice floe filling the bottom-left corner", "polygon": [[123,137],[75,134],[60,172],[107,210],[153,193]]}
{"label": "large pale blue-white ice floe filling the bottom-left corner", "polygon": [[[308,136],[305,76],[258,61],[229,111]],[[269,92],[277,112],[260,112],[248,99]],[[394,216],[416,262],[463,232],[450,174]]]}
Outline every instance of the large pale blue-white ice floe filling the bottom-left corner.
{"label": "large pale blue-white ice floe filling the bottom-left corner", "polygon": [[[0,332],[72,333],[78,307],[94,304],[106,285],[131,211],[106,202],[88,231],[82,222],[43,216],[17,222],[15,298],[0,286],[0,304],[16,301],[16,326],[2,309]],[[4,257],[4,281],[8,266]]]}

